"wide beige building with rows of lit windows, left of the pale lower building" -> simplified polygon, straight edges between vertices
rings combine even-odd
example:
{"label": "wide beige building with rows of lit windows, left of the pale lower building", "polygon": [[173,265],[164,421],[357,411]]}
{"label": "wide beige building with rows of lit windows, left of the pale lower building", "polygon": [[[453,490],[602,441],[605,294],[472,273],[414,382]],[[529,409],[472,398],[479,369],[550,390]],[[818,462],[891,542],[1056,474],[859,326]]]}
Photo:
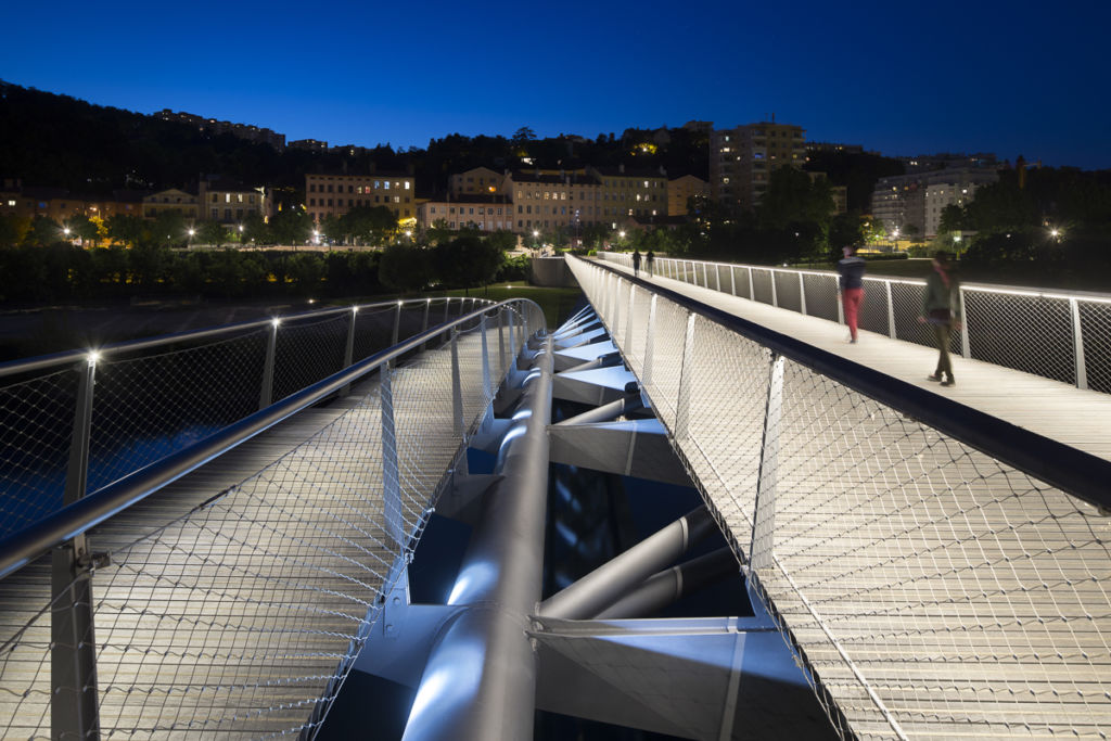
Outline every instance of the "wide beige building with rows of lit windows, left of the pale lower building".
{"label": "wide beige building with rows of lit windows, left of the pale lower building", "polygon": [[304,176],[306,209],[318,223],[327,216],[343,216],[357,207],[384,206],[398,221],[417,218],[416,187],[410,174]]}

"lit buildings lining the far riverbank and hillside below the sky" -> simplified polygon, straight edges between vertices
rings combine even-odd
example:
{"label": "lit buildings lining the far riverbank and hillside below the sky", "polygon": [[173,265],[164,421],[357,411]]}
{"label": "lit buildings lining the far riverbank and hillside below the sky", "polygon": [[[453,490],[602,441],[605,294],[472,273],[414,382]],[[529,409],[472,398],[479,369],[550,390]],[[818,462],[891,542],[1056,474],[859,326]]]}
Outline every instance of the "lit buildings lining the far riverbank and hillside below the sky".
{"label": "lit buildings lining the far riverbank and hillside below the sky", "polygon": [[[182,120],[188,114],[162,111],[161,116]],[[188,122],[210,128],[227,124],[199,117],[190,117]],[[808,144],[801,127],[775,123],[774,117],[771,121],[729,129],[714,129],[708,121],[691,121],[684,128],[700,130],[709,140],[709,181],[693,174],[669,178],[662,168],[644,170],[623,164],[500,172],[478,167],[451,174],[447,191],[418,197],[419,183],[412,173],[308,173],[301,203],[318,227],[324,219],[341,217],[354,208],[384,207],[393,212],[399,224],[416,229],[472,227],[518,234],[539,230],[574,234],[580,227],[588,226],[635,229],[683,220],[691,199],[711,199],[738,210],[751,209],[759,203],[771,172],[784,166],[801,169],[810,150],[862,151],[860,147],[845,144]],[[272,132],[237,133],[266,140]],[[909,174],[884,178],[877,184],[872,213],[889,231],[913,226],[918,233],[935,234],[944,206],[965,204],[977,188],[998,179],[992,156],[938,157],[942,159],[907,158]],[[811,177],[823,176],[811,173]],[[843,213],[845,189],[834,187],[832,192],[834,210]],[[277,200],[270,188],[212,176],[200,178],[193,189],[118,190],[107,197],[24,188],[11,180],[0,182],[0,214],[44,216],[58,221],[78,214],[157,219],[160,213],[177,211],[188,220],[213,220],[234,228],[251,217],[272,217],[276,210]]]}

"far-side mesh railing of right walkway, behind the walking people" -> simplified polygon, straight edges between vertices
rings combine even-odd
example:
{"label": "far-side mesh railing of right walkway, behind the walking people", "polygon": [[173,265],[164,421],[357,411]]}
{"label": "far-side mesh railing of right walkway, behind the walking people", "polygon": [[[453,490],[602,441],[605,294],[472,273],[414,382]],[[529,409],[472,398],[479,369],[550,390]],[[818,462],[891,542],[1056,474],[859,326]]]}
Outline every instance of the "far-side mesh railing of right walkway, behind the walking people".
{"label": "far-side mesh railing of right walkway, behind the walking people", "polygon": [[[627,268],[631,256],[600,253]],[[655,274],[843,323],[838,276],[829,271],[655,259]],[[709,278],[707,278],[707,276]],[[719,288],[720,279],[720,288]],[[800,283],[801,279],[801,283]],[[861,329],[933,346],[918,317],[925,282],[865,278]],[[1111,297],[961,286],[963,331],[952,351],[1057,381],[1111,393]]]}

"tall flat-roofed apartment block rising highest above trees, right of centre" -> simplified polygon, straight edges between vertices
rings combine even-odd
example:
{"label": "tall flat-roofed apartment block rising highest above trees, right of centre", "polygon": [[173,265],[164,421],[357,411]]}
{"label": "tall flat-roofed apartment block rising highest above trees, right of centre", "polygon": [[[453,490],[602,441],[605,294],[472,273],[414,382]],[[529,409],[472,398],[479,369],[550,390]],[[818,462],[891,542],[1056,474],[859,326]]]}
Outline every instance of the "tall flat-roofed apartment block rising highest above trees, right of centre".
{"label": "tall flat-roofed apartment block rising highest above trees, right of centre", "polygon": [[764,121],[710,132],[710,196],[749,210],[760,202],[771,172],[801,168],[807,160],[805,130]]}

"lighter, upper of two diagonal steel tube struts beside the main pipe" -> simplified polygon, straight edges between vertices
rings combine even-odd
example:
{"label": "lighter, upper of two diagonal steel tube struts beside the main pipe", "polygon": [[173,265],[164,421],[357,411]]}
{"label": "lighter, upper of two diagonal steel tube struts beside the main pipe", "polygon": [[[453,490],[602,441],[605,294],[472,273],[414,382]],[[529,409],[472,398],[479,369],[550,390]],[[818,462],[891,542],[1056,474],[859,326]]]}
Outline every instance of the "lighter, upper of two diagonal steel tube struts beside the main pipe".
{"label": "lighter, upper of two diagonal steel tube struts beside the main pipe", "polygon": [[715,529],[704,507],[688,512],[563,591],[549,597],[540,604],[537,614],[565,620],[589,619],[665,568]]}

